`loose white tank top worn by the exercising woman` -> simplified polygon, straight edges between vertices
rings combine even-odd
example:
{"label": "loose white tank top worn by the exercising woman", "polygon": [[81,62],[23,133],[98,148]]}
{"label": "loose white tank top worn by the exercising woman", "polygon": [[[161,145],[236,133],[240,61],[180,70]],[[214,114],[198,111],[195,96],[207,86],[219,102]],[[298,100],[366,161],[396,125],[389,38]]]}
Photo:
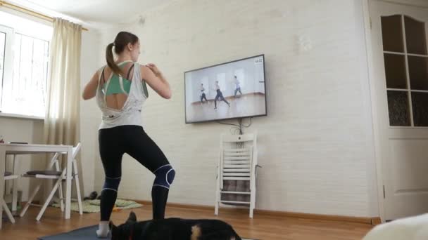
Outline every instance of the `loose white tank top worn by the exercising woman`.
{"label": "loose white tank top worn by the exercising woman", "polygon": [[[146,101],[148,94],[144,91],[145,87],[144,82],[141,80],[139,64],[134,62],[134,74],[131,79],[130,93],[127,95],[127,100],[122,109],[107,107],[106,94],[101,87],[101,74],[103,74],[103,69],[105,68],[106,66],[99,70],[98,87],[96,88],[96,102],[102,113],[102,121],[99,129],[123,125],[142,126],[141,107]],[[108,79],[110,79],[111,76]],[[123,81],[122,76],[119,76],[119,81]]]}

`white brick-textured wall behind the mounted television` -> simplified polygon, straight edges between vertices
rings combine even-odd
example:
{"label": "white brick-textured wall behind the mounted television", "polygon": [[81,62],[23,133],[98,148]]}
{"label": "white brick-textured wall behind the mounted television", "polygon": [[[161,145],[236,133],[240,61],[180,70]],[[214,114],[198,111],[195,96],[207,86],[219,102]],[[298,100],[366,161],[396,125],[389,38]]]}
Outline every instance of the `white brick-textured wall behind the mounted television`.
{"label": "white brick-textured wall behind the mounted television", "polygon": [[[219,134],[229,132],[184,124],[183,72],[264,53],[268,116],[245,129],[259,137],[256,208],[379,214],[360,0],[177,0],[144,16],[120,29],[140,37],[141,63],[155,62],[172,86],[171,100],[151,91],[143,111],[177,171],[170,202],[213,206]],[[101,46],[115,33],[103,31]],[[99,191],[99,160],[95,171]],[[130,156],[122,171],[120,197],[151,199],[149,171]]]}

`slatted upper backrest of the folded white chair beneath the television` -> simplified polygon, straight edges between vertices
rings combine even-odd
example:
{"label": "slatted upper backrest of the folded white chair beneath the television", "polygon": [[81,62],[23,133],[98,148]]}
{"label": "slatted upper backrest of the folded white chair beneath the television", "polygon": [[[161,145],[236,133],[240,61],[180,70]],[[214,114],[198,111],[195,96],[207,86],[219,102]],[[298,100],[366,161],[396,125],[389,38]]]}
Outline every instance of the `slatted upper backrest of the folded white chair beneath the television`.
{"label": "slatted upper backrest of the folded white chair beneath the television", "polygon": [[223,180],[250,181],[257,164],[256,133],[220,138],[220,186]]}

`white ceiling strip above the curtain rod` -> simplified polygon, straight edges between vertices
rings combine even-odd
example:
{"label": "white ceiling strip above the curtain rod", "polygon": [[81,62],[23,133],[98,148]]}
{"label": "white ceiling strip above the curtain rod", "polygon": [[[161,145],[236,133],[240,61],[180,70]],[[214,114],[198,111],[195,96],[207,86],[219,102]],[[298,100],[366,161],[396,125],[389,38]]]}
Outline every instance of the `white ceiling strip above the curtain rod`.
{"label": "white ceiling strip above the curtain rod", "polygon": [[[130,22],[144,12],[157,6],[168,4],[172,0],[6,0],[25,6],[34,11],[53,15],[62,13],[72,17],[82,25],[106,27],[108,25]],[[73,19],[70,19],[73,20]]]}

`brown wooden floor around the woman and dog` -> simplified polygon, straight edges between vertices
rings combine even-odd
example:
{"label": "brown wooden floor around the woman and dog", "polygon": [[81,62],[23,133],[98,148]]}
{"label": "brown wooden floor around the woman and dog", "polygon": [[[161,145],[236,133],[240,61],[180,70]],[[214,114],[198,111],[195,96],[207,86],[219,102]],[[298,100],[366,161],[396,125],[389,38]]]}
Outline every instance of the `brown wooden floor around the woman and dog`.
{"label": "brown wooden floor around the woman and dog", "polygon": [[[58,234],[72,229],[98,224],[99,213],[79,215],[72,212],[70,220],[61,218],[59,208],[48,208],[42,221],[35,220],[39,208],[30,208],[23,218],[17,218],[15,225],[4,222],[0,230],[0,239],[25,240],[36,239],[38,236]],[[139,220],[151,218],[151,206],[134,208]],[[130,210],[114,212],[115,224],[124,222]],[[213,211],[203,209],[186,209],[171,207],[167,209],[167,217],[180,218],[215,218]],[[270,215],[254,215],[251,220],[247,213],[220,211],[218,219],[229,222],[241,237],[252,239],[301,239],[301,240],[339,240],[361,239],[371,228],[370,225],[335,222],[327,220],[309,220],[286,218]]]}

